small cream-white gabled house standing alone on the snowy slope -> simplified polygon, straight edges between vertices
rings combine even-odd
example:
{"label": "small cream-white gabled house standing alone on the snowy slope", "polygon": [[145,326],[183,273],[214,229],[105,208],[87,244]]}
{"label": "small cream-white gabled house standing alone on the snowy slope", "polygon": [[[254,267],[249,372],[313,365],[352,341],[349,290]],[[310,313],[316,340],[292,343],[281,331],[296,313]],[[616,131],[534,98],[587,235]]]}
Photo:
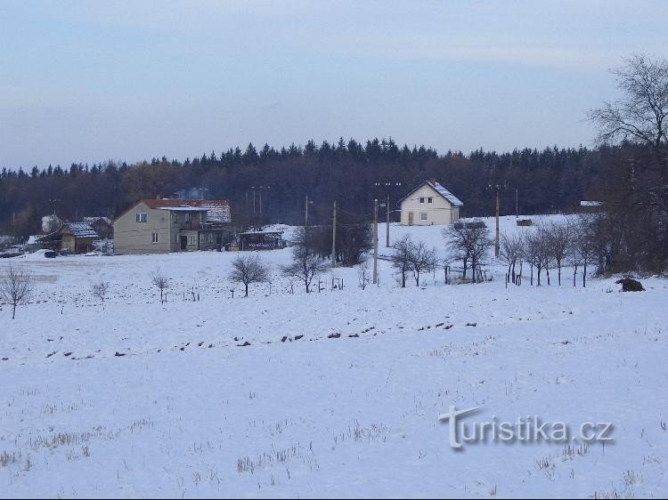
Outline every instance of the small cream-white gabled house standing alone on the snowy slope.
{"label": "small cream-white gabled house standing alone on the snowy slope", "polygon": [[460,199],[435,179],[420,184],[401,200],[401,223],[406,226],[452,224],[460,220]]}

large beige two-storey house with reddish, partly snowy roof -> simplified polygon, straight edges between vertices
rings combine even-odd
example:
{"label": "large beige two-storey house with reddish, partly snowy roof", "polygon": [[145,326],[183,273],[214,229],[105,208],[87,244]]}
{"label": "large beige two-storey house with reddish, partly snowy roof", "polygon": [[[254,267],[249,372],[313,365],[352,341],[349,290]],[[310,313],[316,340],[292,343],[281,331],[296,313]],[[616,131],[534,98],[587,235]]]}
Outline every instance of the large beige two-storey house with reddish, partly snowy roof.
{"label": "large beige two-storey house with reddish, partly snowy roof", "polygon": [[220,250],[231,222],[227,200],[143,199],[114,221],[114,253]]}

